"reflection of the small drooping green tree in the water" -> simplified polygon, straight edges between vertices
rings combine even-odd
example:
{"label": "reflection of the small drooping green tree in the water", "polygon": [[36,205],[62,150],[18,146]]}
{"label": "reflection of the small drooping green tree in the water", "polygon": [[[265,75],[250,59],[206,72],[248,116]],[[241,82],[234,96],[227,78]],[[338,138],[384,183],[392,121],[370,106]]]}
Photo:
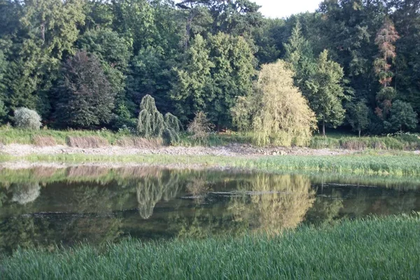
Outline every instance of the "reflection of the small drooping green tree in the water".
{"label": "reflection of the small drooping green tree in the water", "polygon": [[141,218],[153,214],[156,203],[171,200],[179,190],[179,176],[174,172],[160,170],[158,174],[147,174],[137,180],[137,202]]}

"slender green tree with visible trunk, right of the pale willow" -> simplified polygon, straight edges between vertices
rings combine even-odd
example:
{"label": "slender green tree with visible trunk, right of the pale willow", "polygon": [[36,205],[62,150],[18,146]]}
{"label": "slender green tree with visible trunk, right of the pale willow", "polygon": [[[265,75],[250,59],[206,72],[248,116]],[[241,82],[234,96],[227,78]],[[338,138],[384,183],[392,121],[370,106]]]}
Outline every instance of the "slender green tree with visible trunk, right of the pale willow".
{"label": "slender green tree with visible trunk, right of the pale willow", "polygon": [[342,101],[346,99],[342,87],[343,69],[337,62],[328,59],[324,50],[316,62],[316,70],[307,81],[309,106],[316,113],[325,136],[325,124],[337,127],[344,120]]}

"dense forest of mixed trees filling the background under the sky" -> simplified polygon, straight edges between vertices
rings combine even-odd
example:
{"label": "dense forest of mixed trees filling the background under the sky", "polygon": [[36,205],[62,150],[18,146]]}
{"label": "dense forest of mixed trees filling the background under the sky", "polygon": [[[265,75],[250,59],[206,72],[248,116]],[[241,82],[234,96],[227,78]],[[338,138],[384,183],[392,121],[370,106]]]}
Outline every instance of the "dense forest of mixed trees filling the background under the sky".
{"label": "dense forest of mixed trees filling the background under the sky", "polygon": [[[150,94],[160,112],[184,125],[204,112],[216,130],[264,126],[270,112],[321,132],[418,130],[420,1],[325,0],[286,19],[259,8],[0,0],[0,123],[26,107],[48,127],[130,129]],[[279,87],[290,87],[286,97],[298,87],[306,100],[290,105]],[[296,109],[305,102],[311,112]]]}

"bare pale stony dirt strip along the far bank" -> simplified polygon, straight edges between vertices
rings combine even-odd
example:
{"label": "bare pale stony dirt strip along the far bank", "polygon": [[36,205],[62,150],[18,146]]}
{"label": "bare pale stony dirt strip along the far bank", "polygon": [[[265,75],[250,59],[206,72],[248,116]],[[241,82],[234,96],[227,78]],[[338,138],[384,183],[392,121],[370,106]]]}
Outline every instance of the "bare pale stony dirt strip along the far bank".
{"label": "bare pale stony dirt strip along the far bank", "polygon": [[260,155],[347,155],[356,153],[349,150],[269,147],[259,148],[251,145],[232,144],[217,147],[160,147],[134,148],[108,146],[103,148],[71,148],[69,146],[38,147],[34,145],[10,144],[0,146],[0,153],[6,155],[218,155],[218,156],[260,156]]}

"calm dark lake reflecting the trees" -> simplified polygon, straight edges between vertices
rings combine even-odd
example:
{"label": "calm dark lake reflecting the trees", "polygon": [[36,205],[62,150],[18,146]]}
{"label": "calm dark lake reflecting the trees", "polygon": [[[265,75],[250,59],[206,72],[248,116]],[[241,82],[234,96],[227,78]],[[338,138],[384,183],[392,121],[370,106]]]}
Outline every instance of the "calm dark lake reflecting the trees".
{"label": "calm dark lake reflecting the trees", "polygon": [[334,174],[75,166],[0,169],[0,251],[125,237],[277,234],[420,211],[420,184]]}

